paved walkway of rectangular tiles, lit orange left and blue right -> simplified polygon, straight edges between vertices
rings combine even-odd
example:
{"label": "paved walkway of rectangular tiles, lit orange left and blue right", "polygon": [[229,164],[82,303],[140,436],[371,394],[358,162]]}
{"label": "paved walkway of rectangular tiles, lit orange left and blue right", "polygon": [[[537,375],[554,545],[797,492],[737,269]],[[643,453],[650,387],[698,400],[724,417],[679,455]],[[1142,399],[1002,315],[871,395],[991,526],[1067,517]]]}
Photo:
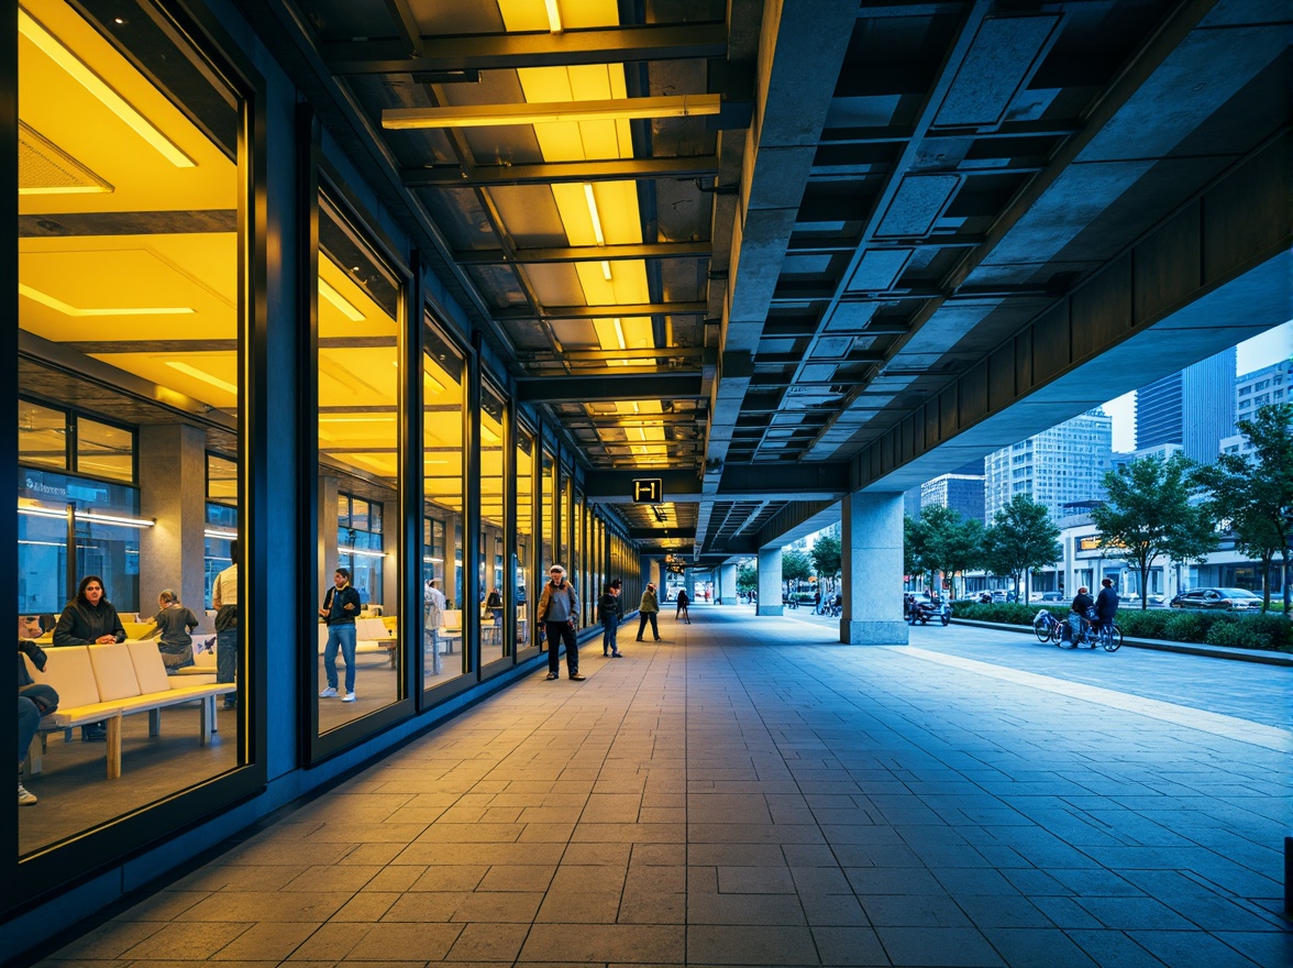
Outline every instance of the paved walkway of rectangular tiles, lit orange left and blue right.
{"label": "paved walkway of rectangular tiles, lit orange left and blue right", "polygon": [[[1293,670],[692,617],[586,646],[582,683],[537,668],[43,964],[1293,960],[1287,716],[1218,686],[1287,712]],[[1120,687],[1147,669],[1161,695]]]}

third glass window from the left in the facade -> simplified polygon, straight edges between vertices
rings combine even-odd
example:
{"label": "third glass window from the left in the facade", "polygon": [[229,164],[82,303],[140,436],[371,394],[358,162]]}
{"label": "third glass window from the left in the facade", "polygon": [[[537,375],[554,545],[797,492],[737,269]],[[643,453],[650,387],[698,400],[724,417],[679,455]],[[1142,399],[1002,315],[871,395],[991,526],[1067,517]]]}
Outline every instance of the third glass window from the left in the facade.
{"label": "third glass window from the left in the facade", "polygon": [[[423,338],[423,516],[424,634],[423,685],[432,688],[468,670],[463,651],[463,620],[475,603],[463,607],[463,427],[467,414],[467,368],[463,355],[429,320]],[[440,528],[440,542],[425,541]],[[431,532],[429,534],[427,532]]]}

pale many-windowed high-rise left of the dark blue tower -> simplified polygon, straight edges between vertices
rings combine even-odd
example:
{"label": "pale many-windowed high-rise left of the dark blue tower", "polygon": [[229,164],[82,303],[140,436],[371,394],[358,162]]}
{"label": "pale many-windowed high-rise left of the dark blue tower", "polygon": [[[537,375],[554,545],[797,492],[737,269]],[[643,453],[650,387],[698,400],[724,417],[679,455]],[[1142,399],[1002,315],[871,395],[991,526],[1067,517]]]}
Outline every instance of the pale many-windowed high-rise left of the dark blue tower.
{"label": "pale many-windowed high-rise left of the dark blue tower", "polygon": [[984,512],[990,523],[1015,494],[1046,505],[1053,520],[1063,506],[1104,497],[1102,479],[1112,466],[1113,421],[1096,408],[1036,436],[988,454]]}

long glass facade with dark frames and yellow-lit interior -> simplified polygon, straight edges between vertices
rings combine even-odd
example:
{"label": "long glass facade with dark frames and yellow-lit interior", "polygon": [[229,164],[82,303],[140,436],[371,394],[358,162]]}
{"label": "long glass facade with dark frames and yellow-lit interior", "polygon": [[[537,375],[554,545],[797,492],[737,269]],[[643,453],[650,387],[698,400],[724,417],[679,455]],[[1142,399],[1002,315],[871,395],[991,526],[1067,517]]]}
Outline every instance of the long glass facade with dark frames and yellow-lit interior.
{"label": "long glass facade with dark frames and yellow-lit interior", "polygon": [[[37,802],[4,808],[19,950],[516,678],[547,564],[586,625],[612,576],[626,602],[641,581],[231,8],[9,9],[0,580],[63,714],[22,765]],[[59,626],[91,578],[120,643]],[[344,586],[353,669],[322,616]],[[180,665],[150,638],[163,591],[197,621]]]}

